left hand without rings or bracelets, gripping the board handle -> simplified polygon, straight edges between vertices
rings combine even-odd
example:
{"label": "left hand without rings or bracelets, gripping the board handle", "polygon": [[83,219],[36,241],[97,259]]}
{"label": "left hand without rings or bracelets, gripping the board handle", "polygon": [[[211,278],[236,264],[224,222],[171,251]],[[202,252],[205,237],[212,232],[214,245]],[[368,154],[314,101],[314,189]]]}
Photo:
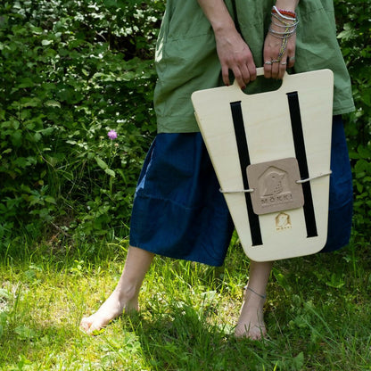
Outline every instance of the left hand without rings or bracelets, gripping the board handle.
{"label": "left hand without rings or bracelets, gripping the board handle", "polygon": [[229,70],[232,70],[239,87],[246,87],[256,78],[256,67],[249,46],[235,29],[216,32],[215,39],[223,82],[227,86],[230,84]]}

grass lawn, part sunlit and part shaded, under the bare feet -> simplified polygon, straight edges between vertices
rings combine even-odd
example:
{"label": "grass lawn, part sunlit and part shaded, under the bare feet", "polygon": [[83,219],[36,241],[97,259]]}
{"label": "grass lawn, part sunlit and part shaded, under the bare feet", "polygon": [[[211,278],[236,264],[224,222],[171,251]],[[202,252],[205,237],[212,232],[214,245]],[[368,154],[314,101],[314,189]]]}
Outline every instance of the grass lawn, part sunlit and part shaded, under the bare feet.
{"label": "grass lawn, part sunlit and part shaded, under the bare feet", "polygon": [[78,329],[120,277],[127,241],[3,251],[1,370],[371,370],[370,243],[277,261],[268,338],[236,341],[249,261],[238,243],[222,268],[156,257],[141,312],[101,334]]}

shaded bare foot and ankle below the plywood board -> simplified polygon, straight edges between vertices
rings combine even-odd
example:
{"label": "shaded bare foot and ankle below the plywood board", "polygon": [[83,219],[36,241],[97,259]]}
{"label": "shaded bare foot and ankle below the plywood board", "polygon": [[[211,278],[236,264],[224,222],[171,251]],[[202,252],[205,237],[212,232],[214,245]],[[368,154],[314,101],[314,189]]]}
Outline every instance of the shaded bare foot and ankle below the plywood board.
{"label": "shaded bare foot and ankle below the plywood board", "polygon": [[267,329],[263,314],[264,302],[265,295],[245,290],[240,318],[237,326],[235,326],[236,338],[260,340],[266,336]]}

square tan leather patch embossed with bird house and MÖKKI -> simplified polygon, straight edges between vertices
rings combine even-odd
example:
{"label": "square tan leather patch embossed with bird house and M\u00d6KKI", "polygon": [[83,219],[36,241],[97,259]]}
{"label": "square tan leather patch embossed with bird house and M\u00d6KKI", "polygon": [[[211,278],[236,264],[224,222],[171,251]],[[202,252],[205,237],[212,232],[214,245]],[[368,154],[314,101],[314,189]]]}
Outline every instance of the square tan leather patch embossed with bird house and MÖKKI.
{"label": "square tan leather patch embossed with bird house and M\u00d6KKI", "polygon": [[303,205],[298,162],[294,158],[260,162],[247,167],[252,208],[256,214],[296,209]]}

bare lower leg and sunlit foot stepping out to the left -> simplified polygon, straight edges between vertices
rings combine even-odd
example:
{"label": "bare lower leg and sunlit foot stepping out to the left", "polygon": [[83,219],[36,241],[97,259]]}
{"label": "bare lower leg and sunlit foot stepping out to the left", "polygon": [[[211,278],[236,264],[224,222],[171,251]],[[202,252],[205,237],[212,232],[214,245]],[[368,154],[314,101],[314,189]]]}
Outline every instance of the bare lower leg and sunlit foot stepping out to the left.
{"label": "bare lower leg and sunlit foot stepping out to the left", "polygon": [[93,315],[81,319],[80,327],[87,334],[102,329],[112,319],[119,317],[124,310],[129,312],[139,309],[139,291],[153,257],[152,252],[132,246],[128,248],[127,260],[116,288]]}

